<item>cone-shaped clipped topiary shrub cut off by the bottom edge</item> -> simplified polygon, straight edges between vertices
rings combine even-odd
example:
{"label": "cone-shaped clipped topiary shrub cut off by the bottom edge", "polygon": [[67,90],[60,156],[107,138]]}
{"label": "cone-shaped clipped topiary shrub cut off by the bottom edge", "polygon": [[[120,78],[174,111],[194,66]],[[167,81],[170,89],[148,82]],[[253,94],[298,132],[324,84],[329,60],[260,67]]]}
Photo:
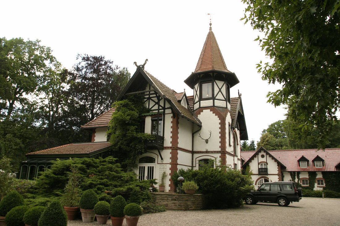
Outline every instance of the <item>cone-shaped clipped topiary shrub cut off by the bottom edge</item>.
{"label": "cone-shaped clipped topiary shrub cut off by the bottom edge", "polygon": [[59,201],[48,205],[41,214],[38,226],[67,226],[67,215]]}

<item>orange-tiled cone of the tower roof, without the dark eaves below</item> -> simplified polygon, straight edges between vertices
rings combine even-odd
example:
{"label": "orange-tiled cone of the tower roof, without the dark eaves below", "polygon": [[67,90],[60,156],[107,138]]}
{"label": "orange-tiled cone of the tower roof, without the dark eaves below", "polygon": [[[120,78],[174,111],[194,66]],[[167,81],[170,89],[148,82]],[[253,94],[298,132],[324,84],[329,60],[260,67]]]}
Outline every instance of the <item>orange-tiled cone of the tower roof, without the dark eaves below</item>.
{"label": "orange-tiled cone of the tower roof, without the dark eaves below", "polygon": [[210,70],[231,73],[231,71],[229,71],[227,69],[227,66],[225,65],[221,50],[218,47],[215,35],[212,32],[211,23],[207,38],[205,39],[203,49],[200,58],[198,59],[194,73]]}

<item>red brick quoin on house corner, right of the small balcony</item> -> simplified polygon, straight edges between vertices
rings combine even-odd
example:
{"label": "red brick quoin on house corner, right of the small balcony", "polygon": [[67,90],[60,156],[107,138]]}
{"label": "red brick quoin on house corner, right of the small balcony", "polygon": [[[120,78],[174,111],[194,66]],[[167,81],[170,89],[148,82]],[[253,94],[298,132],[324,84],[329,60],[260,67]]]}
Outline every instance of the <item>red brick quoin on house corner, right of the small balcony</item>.
{"label": "red brick quoin on house corner, right of the small balcony", "polygon": [[171,149],[170,151],[170,192],[174,192],[175,191],[175,186],[172,183],[171,180],[171,176],[174,174],[174,172],[176,172],[178,170],[178,150],[176,148],[178,148],[178,128],[179,128],[179,118],[178,115],[175,114],[175,118],[173,116],[171,116],[171,141],[170,144],[172,147],[174,147],[173,149]]}

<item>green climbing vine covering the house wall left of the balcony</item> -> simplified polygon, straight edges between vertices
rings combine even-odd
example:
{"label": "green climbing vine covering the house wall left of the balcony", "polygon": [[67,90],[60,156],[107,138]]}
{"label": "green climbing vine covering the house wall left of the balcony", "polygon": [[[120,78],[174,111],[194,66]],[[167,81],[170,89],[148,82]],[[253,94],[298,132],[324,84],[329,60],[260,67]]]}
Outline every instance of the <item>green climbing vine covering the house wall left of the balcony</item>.
{"label": "green climbing vine covering the house wall left of the balcony", "polygon": [[112,114],[107,134],[122,168],[127,169],[135,165],[138,155],[146,152],[145,141],[154,139],[151,134],[140,131],[141,114],[149,110],[143,104],[141,96],[128,98],[113,103],[115,112]]}

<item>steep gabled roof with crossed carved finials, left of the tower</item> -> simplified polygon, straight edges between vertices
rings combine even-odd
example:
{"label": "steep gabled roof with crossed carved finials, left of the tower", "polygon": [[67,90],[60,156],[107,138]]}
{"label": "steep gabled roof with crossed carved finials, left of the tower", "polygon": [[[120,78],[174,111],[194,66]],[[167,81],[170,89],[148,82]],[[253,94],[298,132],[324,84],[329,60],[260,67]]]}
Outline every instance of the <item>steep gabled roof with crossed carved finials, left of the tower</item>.
{"label": "steep gabled roof with crossed carved finials, left of the tower", "polygon": [[139,85],[140,82],[138,81],[137,77],[140,76],[142,76],[152,86],[152,88],[158,95],[160,95],[162,98],[165,98],[169,102],[172,109],[177,114],[179,114],[179,116],[184,117],[199,126],[202,125],[201,121],[193,114],[190,109],[185,108],[181,105],[181,103],[177,101],[177,98],[175,97],[174,91],[172,89],[167,87],[164,83],[160,82],[157,78],[152,76],[141,67],[137,68],[136,72],[131,77],[128,84],[126,84],[123,91],[117,97],[117,100],[121,100],[130,87],[134,87],[136,84]]}

